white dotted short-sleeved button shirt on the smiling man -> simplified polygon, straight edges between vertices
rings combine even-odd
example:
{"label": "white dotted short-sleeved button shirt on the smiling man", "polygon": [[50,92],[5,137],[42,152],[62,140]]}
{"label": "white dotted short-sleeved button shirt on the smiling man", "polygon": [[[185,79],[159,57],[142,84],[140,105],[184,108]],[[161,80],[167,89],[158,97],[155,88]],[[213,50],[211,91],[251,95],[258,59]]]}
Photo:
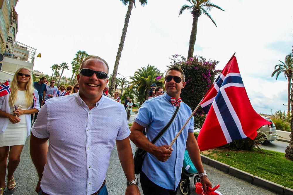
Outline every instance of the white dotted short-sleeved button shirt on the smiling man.
{"label": "white dotted short-sleeved button shirt on the smiling man", "polygon": [[89,110],[77,92],[47,100],[32,133],[49,137],[42,191],[90,195],[105,180],[115,140],[127,138],[130,130],[121,103],[102,95]]}

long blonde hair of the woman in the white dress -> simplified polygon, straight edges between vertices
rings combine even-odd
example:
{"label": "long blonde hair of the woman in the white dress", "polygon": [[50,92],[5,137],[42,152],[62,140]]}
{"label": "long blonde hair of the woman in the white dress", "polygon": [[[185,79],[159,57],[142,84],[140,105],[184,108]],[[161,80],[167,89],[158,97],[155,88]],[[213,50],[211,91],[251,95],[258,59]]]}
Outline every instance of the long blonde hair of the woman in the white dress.
{"label": "long blonde hair of the woman in the white dress", "polygon": [[17,74],[22,70],[28,70],[30,72],[30,78],[28,79],[28,82],[25,85],[25,102],[28,106],[31,106],[33,104],[33,92],[34,92],[34,88],[33,88],[33,76],[32,73],[30,71],[30,69],[25,68],[25,67],[21,67],[18,70],[16,70],[13,79],[10,83],[10,89],[11,89],[11,93],[10,96],[12,98],[9,98],[9,104],[10,106],[12,106],[16,99],[17,99],[17,93],[18,93],[18,83],[17,83]]}

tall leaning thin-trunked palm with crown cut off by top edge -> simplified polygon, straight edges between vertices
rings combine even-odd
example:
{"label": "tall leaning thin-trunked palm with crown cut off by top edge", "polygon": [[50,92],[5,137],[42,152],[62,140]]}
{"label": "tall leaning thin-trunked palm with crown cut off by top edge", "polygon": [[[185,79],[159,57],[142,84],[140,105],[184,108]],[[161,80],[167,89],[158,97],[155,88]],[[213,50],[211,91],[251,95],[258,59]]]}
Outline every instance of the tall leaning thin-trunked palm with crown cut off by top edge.
{"label": "tall leaning thin-trunked palm with crown cut off by top edge", "polygon": [[[114,70],[113,70],[113,74],[112,74],[113,76],[110,80],[110,86],[109,86],[110,94],[114,93],[114,87],[115,87],[114,84],[115,84],[115,80],[116,80],[116,76],[117,76],[118,65],[119,65],[119,60],[120,60],[122,49],[123,49],[123,44],[124,44],[125,37],[126,37],[127,27],[128,27],[128,23],[129,23],[129,19],[130,19],[133,5],[135,7],[135,0],[120,0],[120,1],[122,1],[123,5],[128,4],[128,9],[127,9],[126,16],[125,16],[124,27],[122,29],[120,44],[118,46],[118,51],[117,51],[116,60],[115,60],[115,64],[114,64]],[[147,4],[147,0],[139,0],[139,2],[142,6]]]}

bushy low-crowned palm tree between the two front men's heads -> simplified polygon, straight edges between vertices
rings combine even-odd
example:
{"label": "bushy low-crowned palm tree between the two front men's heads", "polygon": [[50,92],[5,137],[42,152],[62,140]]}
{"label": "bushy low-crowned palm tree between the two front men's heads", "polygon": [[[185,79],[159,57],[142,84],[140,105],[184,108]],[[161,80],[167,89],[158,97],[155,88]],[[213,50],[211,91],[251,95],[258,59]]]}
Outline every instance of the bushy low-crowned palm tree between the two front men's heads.
{"label": "bushy low-crowned palm tree between the two front men's heads", "polygon": [[130,77],[132,79],[130,84],[137,89],[135,96],[137,96],[137,101],[141,104],[146,100],[151,84],[156,83],[157,86],[163,86],[164,78],[161,77],[161,79],[156,80],[158,76],[163,76],[163,73],[155,66],[147,65],[138,69],[134,76]]}

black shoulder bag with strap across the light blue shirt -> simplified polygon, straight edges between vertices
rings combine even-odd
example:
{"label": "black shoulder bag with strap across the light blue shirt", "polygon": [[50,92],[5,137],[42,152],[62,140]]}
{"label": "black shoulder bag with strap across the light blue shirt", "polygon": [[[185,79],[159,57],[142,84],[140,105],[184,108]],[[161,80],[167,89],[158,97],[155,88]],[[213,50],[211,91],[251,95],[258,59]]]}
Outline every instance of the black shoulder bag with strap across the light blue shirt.
{"label": "black shoulder bag with strap across the light blue shirt", "polygon": [[[168,128],[170,127],[170,125],[172,124],[175,116],[177,115],[179,110],[179,106],[177,106],[175,112],[173,113],[172,118],[169,120],[169,122],[167,123],[167,125],[156,135],[156,137],[153,139],[153,141],[151,141],[152,144],[155,144],[156,141],[158,141],[158,139],[166,132],[166,130],[168,130]],[[144,156],[147,153],[147,151],[140,149],[139,147],[137,147],[135,154],[134,154],[134,172],[136,175],[139,175],[139,173],[142,170],[142,164],[144,162]]]}

